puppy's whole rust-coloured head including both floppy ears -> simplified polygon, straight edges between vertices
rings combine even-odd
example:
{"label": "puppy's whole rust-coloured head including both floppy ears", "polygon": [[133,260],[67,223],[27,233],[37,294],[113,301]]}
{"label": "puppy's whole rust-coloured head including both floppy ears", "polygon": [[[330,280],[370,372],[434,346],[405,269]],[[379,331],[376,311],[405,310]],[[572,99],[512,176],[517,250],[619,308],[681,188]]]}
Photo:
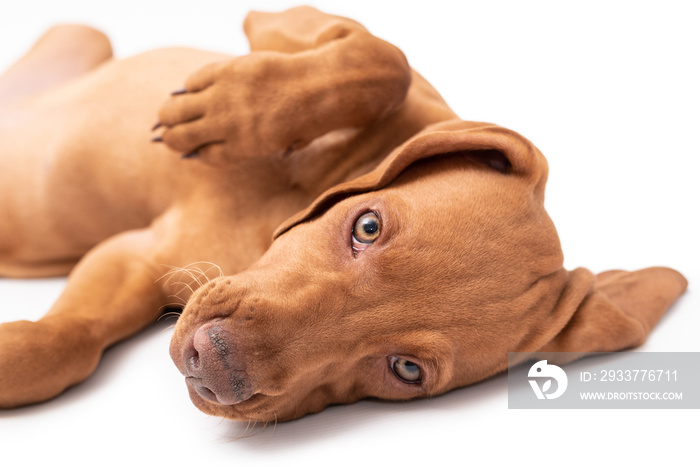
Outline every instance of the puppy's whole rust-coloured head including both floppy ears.
{"label": "puppy's whole rust-coloured head including both floppy ears", "polygon": [[330,189],[188,303],[171,354],[195,405],[288,420],[440,394],[504,370],[509,351],[641,343],[684,279],[564,270],[546,178],[519,135],[452,122]]}

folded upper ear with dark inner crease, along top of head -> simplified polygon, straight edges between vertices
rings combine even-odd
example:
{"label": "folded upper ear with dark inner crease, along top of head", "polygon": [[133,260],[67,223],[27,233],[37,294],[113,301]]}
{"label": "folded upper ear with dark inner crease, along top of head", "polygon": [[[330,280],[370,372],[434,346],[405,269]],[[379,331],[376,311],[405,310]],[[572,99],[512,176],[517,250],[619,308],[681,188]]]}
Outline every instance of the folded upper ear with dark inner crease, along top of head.
{"label": "folded upper ear with dark inner crease, along top of head", "polygon": [[325,191],[308,208],[280,225],[273,238],[318,216],[348,196],[386,187],[416,161],[459,154],[480,160],[500,172],[522,177],[532,185],[535,199],[544,201],[547,161],[532,143],[498,125],[451,120],[427,127],[367,174]]}

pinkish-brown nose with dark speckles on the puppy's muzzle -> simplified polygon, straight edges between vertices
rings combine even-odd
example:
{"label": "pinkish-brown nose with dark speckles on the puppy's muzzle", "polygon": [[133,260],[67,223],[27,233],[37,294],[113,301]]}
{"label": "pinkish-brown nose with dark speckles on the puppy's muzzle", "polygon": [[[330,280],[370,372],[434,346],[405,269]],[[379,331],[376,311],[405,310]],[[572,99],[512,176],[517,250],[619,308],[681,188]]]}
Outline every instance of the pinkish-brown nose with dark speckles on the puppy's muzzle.
{"label": "pinkish-brown nose with dark speckles on the puppy's muzzle", "polygon": [[197,329],[184,359],[187,384],[203,399],[233,405],[253,395],[243,358],[220,321]]}

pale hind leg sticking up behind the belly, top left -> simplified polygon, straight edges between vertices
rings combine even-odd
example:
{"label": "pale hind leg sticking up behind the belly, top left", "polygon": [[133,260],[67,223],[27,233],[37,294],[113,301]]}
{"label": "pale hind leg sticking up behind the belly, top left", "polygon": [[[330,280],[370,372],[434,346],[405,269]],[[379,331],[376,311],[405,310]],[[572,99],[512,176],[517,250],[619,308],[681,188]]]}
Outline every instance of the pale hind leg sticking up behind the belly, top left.
{"label": "pale hind leg sticking up behind the belly, top left", "polygon": [[111,56],[109,39],[101,32],[81,25],[55,26],[0,75],[0,110],[80,76]]}

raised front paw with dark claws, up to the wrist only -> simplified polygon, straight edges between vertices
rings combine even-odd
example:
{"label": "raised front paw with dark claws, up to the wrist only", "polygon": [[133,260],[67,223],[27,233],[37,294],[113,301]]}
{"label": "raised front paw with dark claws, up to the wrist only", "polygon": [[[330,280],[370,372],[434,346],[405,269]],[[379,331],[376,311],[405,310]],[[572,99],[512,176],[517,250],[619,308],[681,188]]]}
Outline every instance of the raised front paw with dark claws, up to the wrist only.
{"label": "raised front paw with dark claws, up to the wrist only", "polygon": [[288,62],[284,54],[258,52],[204,67],[163,104],[163,131],[154,140],[215,165],[283,154],[298,144]]}

